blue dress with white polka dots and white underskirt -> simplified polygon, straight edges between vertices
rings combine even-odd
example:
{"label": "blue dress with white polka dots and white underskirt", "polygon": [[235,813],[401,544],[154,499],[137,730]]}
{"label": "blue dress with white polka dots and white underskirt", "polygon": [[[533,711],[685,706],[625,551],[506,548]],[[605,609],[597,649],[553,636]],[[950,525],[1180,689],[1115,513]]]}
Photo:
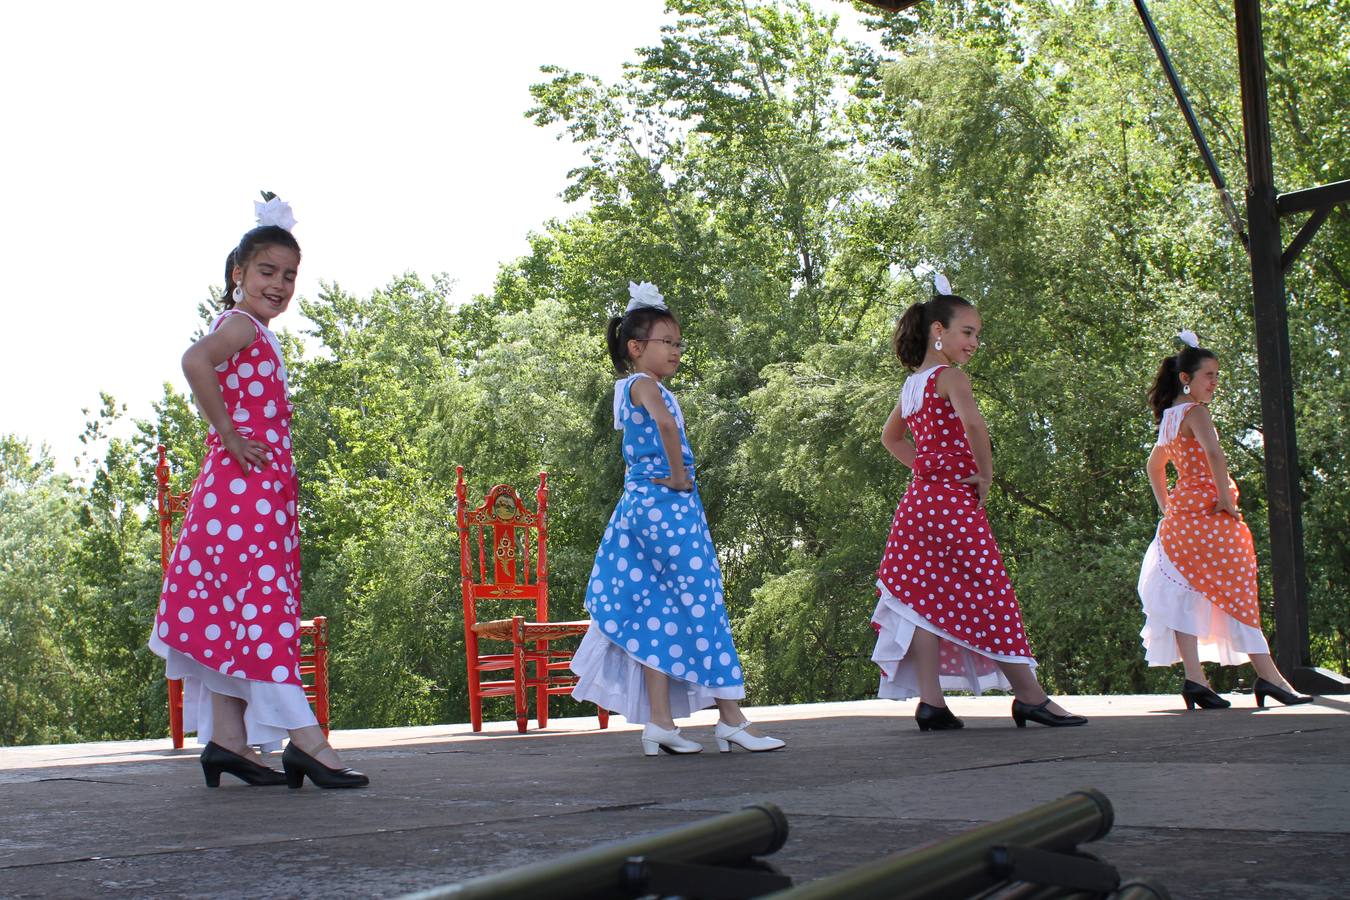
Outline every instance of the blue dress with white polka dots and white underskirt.
{"label": "blue dress with white polka dots and white underskirt", "polygon": [[572,671],[572,696],[636,725],[651,721],[643,668],[671,677],[671,714],[686,716],[716,699],[745,696],[722,596],[722,571],[694,479],[694,452],[675,395],[657,385],[680,430],[693,491],[674,491],[656,422],[634,406],[632,375],[614,386],[614,428],[624,432],[624,495],[614,507],[591,567],[586,633]]}

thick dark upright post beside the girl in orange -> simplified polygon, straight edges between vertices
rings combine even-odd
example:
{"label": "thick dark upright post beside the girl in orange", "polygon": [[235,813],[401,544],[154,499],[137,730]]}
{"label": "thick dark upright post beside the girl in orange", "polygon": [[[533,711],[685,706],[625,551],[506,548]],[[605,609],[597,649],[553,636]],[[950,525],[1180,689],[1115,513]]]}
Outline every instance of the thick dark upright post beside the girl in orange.
{"label": "thick dark upright post beside the girl in orange", "polygon": [[[1238,78],[1242,131],[1247,150],[1247,252],[1265,437],[1266,506],[1270,517],[1270,573],[1274,582],[1274,637],[1280,669],[1299,684],[1308,652],[1308,584],[1303,563],[1299,499],[1299,449],[1293,426],[1293,375],[1284,269],[1280,264],[1280,216],[1276,209],[1266,107],[1261,1],[1234,0],[1238,26]],[[1310,673],[1311,675],[1311,673]]]}

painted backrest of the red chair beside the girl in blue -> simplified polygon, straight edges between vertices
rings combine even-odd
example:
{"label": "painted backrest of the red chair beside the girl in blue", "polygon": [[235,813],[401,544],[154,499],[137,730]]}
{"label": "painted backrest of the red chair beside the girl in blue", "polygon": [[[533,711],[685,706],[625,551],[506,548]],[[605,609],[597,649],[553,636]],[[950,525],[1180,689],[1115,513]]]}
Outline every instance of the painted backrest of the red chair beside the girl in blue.
{"label": "painted backrest of the red chair beside the girl in blue", "polygon": [[456,466],[455,521],[464,629],[478,621],[479,600],[532,602],[533,619],[548,621],[548,472],[539,474],[536,507],[525,507],[509,484],[468,505],[464,467]]}

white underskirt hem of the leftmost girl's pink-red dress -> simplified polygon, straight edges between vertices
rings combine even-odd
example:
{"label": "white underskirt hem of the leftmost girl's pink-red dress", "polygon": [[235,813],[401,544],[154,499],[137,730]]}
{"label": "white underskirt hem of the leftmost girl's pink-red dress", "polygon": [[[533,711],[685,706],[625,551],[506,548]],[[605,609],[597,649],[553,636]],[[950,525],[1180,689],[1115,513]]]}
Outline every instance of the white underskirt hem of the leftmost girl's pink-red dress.
{"label": "white underskirt hem of the leftmost girl's pink-red dress", "polygon": [[247,742],[267,750],[279,750],[293,729],[319,725],[315,711],[298,684],[250,681],[223,675],[202,665],[186,653],[173,649],[158,634],[150,636],[150,649],[165,660],[165,677],[182,679],[182,729],[197,733],[197,743],[211,741],[213,718],[211,695],[223,694],[244,702]]}

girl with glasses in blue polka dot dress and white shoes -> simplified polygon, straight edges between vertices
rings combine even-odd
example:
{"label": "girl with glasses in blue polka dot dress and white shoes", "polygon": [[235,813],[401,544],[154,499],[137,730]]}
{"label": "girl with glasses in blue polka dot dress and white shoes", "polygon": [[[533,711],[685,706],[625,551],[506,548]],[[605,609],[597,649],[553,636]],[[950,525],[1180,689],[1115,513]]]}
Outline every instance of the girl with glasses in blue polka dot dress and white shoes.
{"label": "girl with glasses in blue polka dot dress and white shoes", "polygon": [[684,416],[662,383],[679,368],[679,322],[656,287],[629,282],[609,322],[614,429],[624,432],[624,495],[595,552],[586,590],[591,627],[572,696],[643,723],[643,752],[698,753],[675,718],[717,704],[718,749],[776,750],[737,700],[745,696],[722,596],[722,572],[698,497]]}

